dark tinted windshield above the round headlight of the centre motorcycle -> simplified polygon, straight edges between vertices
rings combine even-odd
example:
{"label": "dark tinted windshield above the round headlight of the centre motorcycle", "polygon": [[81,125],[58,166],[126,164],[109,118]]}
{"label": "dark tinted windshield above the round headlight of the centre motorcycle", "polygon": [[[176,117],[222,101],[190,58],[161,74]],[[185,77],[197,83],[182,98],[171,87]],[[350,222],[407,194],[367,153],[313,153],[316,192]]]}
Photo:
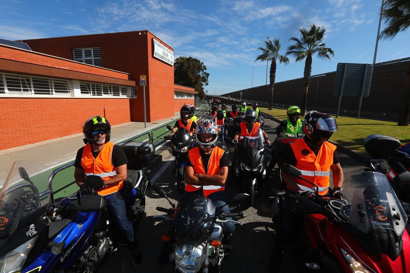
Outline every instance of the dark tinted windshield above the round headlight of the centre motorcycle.
{"label": "dark tinted windshield above the round headlight of the centre motorcycle", "polygon": [[[205,224],[201,221],[209,217],[208,207],[202,191],[185,192],[178,204],[175,214],[175,238],[180,244],[197,246],[206,241],[211,234],[209,221]],[[207,216],[205,216],[208,214]]]}

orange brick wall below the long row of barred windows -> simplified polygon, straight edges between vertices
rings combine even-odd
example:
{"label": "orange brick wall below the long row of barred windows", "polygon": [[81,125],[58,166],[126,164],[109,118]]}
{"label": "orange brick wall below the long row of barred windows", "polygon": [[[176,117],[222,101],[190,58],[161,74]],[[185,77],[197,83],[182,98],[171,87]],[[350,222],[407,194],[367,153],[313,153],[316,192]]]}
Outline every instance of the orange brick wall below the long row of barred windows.
{"label": "orange brick wall below the long row of barred windows", "polygon": [[[130,99],[0,98],[0,151],[82,132],[91,115],[130,122]],[[17,110],[16,110],[17,109]]]}

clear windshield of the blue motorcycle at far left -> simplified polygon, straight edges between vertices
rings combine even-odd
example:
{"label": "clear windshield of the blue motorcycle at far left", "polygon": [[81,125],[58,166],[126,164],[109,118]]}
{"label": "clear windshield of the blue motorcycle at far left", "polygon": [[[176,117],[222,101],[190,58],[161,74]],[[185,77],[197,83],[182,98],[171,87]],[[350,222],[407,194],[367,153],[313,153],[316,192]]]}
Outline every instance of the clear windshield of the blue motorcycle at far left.
{"label": "clear windshield of the blue motorcycle at far left", "polygon": [[51,192],[47,190],[51,173],[49,167],[40,163],[13,163],[0,192],[0,237],[7,235],[10,226],[19,228],[45,212]]}

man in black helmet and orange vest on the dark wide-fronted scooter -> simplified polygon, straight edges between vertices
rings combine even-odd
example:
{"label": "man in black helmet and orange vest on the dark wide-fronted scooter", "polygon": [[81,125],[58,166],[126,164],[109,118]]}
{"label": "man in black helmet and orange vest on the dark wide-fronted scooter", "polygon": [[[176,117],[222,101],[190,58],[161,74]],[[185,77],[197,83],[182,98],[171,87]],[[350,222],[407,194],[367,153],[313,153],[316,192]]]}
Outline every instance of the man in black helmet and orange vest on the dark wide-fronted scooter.
{"label": "man in black helmet and orange vest on the dark wide-fronted scooter", "polygon": [[[260,122],[256,122],[256,112],[253,109],[249,109],[245,113],[245,121],[239,124],[239,127],[236,128],[236,133],[233,137],[234,142],[238,142],[238,140],[242,140],[244,137],[254,138],[259,135],[260,129]],[[262,129],[261,129],[262,130]],[[269,141],[268,135],[262,130],[262,135],[264,141],[269,145],[271,142]]]}

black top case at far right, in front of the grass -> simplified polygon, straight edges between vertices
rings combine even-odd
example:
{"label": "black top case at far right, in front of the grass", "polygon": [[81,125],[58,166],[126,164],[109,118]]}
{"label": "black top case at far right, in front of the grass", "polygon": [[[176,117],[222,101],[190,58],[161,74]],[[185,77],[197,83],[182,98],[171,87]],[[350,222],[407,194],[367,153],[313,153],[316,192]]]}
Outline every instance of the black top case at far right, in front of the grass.
{"label": "black top case at far right, in front of the grass", "polygon": [[372,158],[389,159],[400,149],[401,143],[397,138],[387,135],[369,135],[364,140],[364,149]]}

